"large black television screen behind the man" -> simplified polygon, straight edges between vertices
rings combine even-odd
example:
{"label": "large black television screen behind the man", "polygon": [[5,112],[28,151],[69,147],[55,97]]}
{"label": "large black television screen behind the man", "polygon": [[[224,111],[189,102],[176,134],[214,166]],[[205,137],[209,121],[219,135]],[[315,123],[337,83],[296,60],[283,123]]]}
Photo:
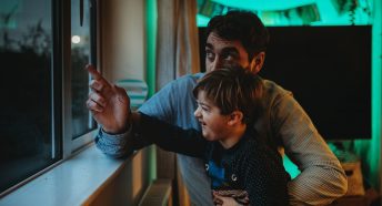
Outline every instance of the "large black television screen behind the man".
{"label": "large black television screen behind the man", "polygon": [[[200,28],[202,70],[204,29]],[[371,27],[269,27],[260,75],[294,97],[325,140],[371,138]]]}

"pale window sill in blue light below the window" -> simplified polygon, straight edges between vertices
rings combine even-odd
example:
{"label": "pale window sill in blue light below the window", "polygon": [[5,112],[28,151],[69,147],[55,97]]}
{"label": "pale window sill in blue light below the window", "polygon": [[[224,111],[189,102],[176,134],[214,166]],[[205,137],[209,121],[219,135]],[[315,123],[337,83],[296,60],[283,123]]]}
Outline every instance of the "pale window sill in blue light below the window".
{"label": "pale window sill in blue light below the window", "polygon": [[0,205],[81,205],[97,195],[125,163],[127,159],[110,158],[91,145],[4,196]]}

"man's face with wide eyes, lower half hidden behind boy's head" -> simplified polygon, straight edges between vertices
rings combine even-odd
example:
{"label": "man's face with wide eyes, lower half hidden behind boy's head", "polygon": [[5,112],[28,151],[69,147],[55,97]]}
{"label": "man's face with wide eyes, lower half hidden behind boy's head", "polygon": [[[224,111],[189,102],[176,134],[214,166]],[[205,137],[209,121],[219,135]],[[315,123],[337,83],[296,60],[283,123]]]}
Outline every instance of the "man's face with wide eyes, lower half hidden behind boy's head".
{"label": "man's face with wide eyes, lower half hidden behind boy's head", "polygon": [[221,39],[211,32],[205,44],[205,70],[207,72],[222,68],[222,65],[241,65],[250,68],[248,53],[240,41],[229,41]]}

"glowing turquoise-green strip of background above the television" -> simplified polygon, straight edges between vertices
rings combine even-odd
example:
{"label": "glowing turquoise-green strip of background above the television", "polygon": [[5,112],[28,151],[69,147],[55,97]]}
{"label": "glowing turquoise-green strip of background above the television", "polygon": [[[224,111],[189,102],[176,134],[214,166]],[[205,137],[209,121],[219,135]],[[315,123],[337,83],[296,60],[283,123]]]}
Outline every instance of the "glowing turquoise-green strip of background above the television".
{"label": "glowing turquoise-green strip of background above the television", "polygon": [[239,9],[255,12],[265,25],[273,27],[371,24],[373,1],[360,1],[354,7],[351,3],[339,0],[198,0],[197,23],[205,27],[211,16]]}

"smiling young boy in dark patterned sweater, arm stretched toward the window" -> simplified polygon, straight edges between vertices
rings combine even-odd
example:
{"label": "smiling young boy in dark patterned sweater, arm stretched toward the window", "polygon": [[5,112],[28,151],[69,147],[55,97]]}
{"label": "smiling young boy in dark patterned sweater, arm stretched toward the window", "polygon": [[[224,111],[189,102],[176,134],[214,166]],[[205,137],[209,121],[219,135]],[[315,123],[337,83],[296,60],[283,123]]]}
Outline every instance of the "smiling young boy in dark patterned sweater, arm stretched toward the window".
{"label": "smiling young boy in dark patterned sweater, arm stretched toward the window", "polygon": [[[261,94],[262,80],[250,71],[217,70],[205,74],[193,89],[198,103],[194,115],[202,133],[143,113],[133,128],[164,150],[202,158],[214,197],[230,196],[242,205],[289,205],[290,176],[280,154],[247,126],[261,112]],[[214,204],[222,200],[214,198]]]}

